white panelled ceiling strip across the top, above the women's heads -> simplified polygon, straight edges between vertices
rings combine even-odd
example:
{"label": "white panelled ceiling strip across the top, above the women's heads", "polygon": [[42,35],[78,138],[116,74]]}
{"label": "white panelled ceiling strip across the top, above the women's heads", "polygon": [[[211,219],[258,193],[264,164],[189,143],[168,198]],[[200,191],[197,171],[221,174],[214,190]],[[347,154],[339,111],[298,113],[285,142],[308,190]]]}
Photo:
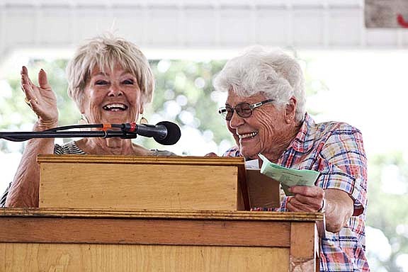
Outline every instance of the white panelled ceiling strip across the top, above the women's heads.
{"label": "white panelled ceiling strip across the top, above the women's heads", "polygon": [[0,0],[0,57],[107,30],[157,50],[408,47],[407,29],[365,28],[363,0]]}

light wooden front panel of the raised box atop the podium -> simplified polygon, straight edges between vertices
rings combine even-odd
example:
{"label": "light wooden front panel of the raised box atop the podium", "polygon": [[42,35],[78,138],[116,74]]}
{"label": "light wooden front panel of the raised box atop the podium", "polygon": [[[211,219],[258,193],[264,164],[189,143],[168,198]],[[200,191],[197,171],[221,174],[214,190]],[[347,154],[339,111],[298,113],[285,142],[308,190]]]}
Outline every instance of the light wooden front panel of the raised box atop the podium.
{"label": "light wooden front panel of the raised box atop the podium", "polygon": [[244,210],[237,168],[162,164],[42,164],[40,208]]}

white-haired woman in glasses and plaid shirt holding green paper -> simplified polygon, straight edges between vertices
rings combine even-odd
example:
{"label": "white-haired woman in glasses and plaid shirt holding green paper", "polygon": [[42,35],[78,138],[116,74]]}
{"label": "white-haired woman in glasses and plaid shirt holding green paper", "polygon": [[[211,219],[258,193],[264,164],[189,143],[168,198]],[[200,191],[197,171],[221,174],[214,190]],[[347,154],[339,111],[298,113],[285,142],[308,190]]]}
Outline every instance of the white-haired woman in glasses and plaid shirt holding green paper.
{"label": "white-haired woman in glasses and plaid shirt holding green paper", "polygon": [[[369,271],[365,257],[367,161],[361,132],[339,122],[314,123],[305,111],[302,69],[281,51],[254,47],[229,60],[214,81],[227,91],[220,114],[237,146],[225,156],[319,171],[314,186],[293,186],[280,208],[325,212],[320,271]],[[268,210],[259,208],[256,210]]]}

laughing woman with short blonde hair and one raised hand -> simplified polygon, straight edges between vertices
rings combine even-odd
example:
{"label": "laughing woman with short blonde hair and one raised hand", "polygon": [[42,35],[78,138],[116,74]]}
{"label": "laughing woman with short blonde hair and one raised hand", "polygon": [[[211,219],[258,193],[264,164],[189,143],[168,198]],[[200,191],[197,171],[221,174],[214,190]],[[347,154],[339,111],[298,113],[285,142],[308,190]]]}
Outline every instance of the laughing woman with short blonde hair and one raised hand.
{"label": "laughing woman with short blonde hair and one raised hand", "polygon": [[[132,42],[113,36],[88,40],[67,66],[68,94],[74,99],[86,123],[134,123],[152,100],[154,77],[145,55]],[[21,88],[26,103],[38,115],[34,131],[58,124],[57,99],[40,70],[39,86],[21,69]],[[115,154],[169,156],[171,152],[145,149],[130,139],[83,138],[65,145],[54,139],[29,140],[13,182],[1,198],[7,207],[38,207],[40,169],[38,154]]]}

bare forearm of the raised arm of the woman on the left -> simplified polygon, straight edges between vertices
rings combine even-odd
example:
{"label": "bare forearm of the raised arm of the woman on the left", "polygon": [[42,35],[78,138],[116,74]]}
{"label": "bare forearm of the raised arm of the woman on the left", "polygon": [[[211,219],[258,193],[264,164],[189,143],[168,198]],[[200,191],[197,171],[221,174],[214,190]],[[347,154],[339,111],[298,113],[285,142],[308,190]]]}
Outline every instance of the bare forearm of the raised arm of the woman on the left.
{"label": "bare forearm of the raised arm of the woman on the left", "polygon": [[[36,123],[33,130],[47,130],[56,125],[57,123]],[[16,176],[8,190],[6,207],[38,207],[40,166],[37,164],[37,155],[53,152],[54,139],[28,140]]]}

